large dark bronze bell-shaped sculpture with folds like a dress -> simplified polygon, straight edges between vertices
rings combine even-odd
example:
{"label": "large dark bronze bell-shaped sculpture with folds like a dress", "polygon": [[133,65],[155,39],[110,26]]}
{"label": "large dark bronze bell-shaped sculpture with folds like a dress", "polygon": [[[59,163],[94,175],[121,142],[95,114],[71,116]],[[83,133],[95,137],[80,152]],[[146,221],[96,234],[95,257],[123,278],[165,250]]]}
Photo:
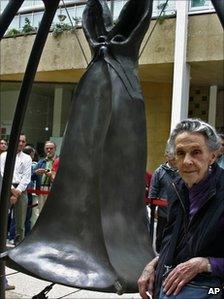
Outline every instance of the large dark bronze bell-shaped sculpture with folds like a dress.
{"label": "large dark bronze bell-shaped sculpture with folds like a dress", "polygon": [[116,25],[106,2],[87,2],[83,28],[93,59],[73,97],[51,193],[8,264],[68,286],[135,292],[154,257],[143,200],[146,124],[137,75],[152,0],[128,1]]}

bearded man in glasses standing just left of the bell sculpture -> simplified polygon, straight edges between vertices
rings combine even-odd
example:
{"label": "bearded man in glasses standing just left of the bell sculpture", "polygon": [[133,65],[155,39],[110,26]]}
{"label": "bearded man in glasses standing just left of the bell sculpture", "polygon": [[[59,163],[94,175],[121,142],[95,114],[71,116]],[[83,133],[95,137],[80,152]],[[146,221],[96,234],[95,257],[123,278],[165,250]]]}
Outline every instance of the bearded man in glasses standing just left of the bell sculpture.
{"label": "bearded man in glasses standing just left of the bell sculpture", "polygon": [[[51,169],[55,159],[57,158],[56,144],[53,141],[46,141],[44,145],[44,152],[46,157],[38,161],[34,168],[33,178],[37,181],[37,189],[49,192],[52,185]],[[38,196],[39,213],[47,200],[47,196],[47,194],[40,194]]]}

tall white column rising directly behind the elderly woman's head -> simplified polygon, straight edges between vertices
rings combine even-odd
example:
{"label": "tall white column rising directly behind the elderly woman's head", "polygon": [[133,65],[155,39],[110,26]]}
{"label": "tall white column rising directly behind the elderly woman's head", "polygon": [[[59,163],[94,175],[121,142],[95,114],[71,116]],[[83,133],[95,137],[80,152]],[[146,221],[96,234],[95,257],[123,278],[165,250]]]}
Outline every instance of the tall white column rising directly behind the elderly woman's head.
{"label": "tall white column rising directly behind the elderly woman's head", "polygon": [[188,116],[190,66],[186,62],[188,0],[176,1],[176,33],[174,52],[171,130]]}

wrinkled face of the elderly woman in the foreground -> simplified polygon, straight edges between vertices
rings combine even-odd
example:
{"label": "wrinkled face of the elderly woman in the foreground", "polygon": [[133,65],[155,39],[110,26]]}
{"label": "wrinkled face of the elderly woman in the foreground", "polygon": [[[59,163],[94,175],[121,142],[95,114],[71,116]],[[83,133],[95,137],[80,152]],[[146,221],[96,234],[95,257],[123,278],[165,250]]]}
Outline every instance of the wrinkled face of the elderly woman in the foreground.
{"label": "wrinkled face of the elderly woman in the foreground", "polygon": [[215,159],[215,152],[211,152],[205,137],[200,133],[183,132],[175,140],[176,166],[185,183],[191,188],[206,177]]}

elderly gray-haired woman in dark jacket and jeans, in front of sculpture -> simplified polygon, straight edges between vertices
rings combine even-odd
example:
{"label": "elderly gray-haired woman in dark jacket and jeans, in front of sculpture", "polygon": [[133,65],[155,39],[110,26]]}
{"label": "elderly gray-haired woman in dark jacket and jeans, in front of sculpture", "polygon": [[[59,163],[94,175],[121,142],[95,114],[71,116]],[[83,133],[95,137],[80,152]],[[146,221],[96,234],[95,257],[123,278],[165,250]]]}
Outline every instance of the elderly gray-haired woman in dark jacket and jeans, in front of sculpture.
{"label": "elderly gray-haired woman in dark jacket and jeans, in front of sculpture", "polygon": [[169,145],[180,181],[170,207],[160,256],[138,280],[143,299],[219,299],[224,281],[224,170],[216,163],[220,138],[209,124],[177,124]]}

